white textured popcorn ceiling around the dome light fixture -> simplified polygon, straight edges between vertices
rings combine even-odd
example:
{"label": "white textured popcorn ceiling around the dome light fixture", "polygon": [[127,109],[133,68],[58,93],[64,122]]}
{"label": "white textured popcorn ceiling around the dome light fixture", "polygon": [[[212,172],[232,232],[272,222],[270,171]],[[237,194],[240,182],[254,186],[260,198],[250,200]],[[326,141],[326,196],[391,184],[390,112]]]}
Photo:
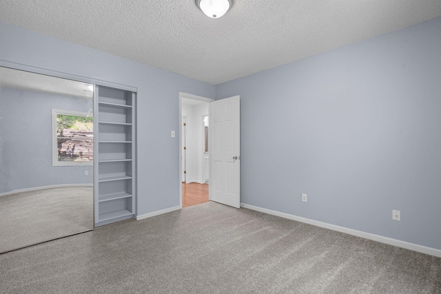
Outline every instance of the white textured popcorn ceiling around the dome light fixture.
{"label": "white textured popcorn ceiling around the dome light fixture", "polygon": [[0,21],[212,84],[441,17],[441,0],[1,0]]}

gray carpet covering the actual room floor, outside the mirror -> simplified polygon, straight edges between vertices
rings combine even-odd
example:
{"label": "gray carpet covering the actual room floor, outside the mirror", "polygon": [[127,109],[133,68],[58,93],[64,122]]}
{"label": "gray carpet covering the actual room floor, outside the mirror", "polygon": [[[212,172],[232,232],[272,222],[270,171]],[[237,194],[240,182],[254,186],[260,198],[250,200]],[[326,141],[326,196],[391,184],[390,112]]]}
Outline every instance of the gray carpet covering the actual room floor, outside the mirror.
{"label": "gray carpet covering the actual room floor, outside the mirror", "polygon": [[0,255],[1,293],[441,293],[441,259],[207,202]]}

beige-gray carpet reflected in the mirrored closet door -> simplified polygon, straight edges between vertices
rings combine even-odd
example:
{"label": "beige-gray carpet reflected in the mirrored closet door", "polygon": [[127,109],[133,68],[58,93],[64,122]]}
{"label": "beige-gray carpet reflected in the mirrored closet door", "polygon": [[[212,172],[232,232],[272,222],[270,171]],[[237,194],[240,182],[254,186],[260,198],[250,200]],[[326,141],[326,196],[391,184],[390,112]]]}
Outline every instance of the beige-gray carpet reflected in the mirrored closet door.
{"label": "beige-gray carpet reflected in the mirrored closet door", "polygon": [[0,252],[93,229],[93,188],[65,187],[0,197]]}

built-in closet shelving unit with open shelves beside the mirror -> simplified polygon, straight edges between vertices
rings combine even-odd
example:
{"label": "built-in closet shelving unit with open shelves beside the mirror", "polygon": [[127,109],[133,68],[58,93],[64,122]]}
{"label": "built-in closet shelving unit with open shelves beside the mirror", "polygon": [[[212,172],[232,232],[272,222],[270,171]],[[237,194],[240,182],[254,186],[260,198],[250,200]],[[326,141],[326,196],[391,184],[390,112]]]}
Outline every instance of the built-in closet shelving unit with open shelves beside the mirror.
{"label": "built-in closet shelving unit with open shelves beside the mirror", "polygon": [[[136,93],[95,86],[95,226],[134,218]],[[96,119],[97,118],[97,119]]]}

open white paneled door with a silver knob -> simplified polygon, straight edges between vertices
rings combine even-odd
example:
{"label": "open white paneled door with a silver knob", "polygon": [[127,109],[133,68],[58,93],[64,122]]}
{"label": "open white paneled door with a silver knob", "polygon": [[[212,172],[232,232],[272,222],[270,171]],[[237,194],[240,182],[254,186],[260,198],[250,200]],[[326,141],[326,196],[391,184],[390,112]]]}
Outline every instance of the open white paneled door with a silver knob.
{"label": "open white paneled door with a silver knob", "polygon": [[210,105],[210,196],[212,201],[240,207],[240,97]]}

